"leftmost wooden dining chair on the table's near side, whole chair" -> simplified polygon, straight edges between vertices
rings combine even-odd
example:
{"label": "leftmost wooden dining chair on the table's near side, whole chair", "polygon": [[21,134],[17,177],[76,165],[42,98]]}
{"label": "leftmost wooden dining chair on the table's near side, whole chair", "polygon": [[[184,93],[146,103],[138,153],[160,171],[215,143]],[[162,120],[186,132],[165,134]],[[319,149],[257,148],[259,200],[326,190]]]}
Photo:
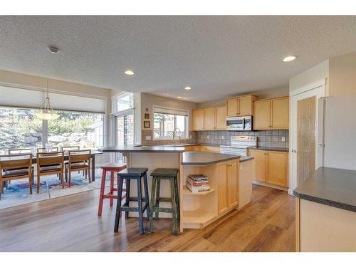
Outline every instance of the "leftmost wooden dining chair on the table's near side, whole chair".
{"label": "leftmost wooden dining chair on the table's near side, whole chair", "polygon": [[0,156],[0,200],[4,193],[3,183],[15,179],[28,178],[28,187],[32,194],[33,167],[32,154]]}

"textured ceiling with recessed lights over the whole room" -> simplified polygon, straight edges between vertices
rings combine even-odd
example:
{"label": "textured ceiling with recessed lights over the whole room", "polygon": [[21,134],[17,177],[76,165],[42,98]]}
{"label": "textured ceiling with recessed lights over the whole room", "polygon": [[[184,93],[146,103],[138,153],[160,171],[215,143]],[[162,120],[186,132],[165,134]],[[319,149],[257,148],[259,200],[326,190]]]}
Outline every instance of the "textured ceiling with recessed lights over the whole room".
{"label": "textured ceiling with recessed lights over the whole room", "polygon": [[197,103],[288,85],[352,51],[356,16],[0,16],[0,69]]}

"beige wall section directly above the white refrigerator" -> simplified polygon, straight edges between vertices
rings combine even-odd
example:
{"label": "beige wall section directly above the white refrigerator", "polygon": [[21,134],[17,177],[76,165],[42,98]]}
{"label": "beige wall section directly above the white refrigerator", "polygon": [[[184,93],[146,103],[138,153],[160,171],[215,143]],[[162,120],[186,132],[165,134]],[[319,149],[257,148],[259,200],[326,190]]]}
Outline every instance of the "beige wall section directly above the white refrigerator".
{"label": "beige wall section directly above the white refrigerator", "polygon": [[356,52],[330,58],[329,93],[331,96],[356,95]]}

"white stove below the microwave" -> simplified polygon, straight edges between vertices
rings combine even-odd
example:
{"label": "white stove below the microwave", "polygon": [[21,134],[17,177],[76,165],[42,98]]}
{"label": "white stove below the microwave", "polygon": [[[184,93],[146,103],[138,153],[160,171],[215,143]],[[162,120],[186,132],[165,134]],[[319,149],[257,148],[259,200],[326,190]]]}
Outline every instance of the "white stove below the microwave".
{"label": "white stove below the microwave", "polygon": [[248,135],[231,136],[231,145],[221,145],[220,153],[247,156],[248,147],[256,147],[257,137]]}

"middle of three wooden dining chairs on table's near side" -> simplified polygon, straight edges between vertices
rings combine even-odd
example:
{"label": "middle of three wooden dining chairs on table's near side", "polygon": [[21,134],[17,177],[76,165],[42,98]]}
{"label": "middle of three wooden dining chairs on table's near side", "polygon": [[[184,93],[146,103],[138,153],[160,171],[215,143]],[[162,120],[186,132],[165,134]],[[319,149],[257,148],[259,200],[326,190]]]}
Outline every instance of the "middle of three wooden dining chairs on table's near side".
{"label": "middle of three wooden dining chairs on table's near side", "polygon": [[41,152],[37,153],[37,193],[40,192],[40,178],[44,175],[58,174],[62,188],[64,170],[64,152]]}

